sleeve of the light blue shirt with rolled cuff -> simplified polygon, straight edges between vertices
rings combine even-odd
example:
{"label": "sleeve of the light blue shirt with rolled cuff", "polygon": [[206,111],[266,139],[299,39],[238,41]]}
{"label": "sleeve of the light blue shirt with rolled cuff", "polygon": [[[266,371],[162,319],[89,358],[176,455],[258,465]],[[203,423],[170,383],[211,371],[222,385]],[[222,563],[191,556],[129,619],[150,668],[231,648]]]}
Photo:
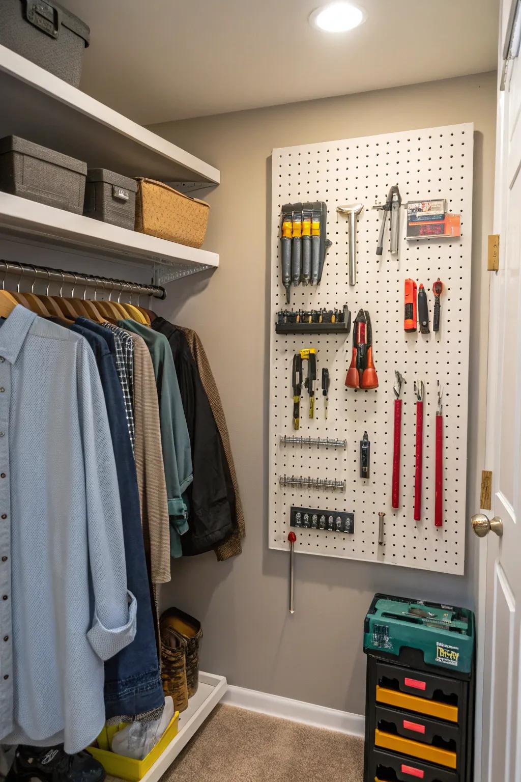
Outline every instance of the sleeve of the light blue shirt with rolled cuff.
{"label": "sleeve of the light blue shirt with rolled cuff", "polygon": [[134,640],[136,600],[127,590],[120,491],[95,357],[80,346],[78,401],[83,439],[87,541],[95,610],[87,638],[107,660]]}

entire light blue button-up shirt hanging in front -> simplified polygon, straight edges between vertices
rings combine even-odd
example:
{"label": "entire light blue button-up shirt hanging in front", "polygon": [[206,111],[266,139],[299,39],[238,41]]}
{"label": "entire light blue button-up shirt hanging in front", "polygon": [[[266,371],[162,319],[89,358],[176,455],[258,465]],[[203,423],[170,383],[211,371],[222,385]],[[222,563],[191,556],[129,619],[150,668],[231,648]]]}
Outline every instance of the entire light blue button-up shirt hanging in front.
{"label": "entire light blue button-up shirt hanging in front", "polygon": [[90,744],[135,615],[95,357],[18,306],[0,328],[0,740]]}

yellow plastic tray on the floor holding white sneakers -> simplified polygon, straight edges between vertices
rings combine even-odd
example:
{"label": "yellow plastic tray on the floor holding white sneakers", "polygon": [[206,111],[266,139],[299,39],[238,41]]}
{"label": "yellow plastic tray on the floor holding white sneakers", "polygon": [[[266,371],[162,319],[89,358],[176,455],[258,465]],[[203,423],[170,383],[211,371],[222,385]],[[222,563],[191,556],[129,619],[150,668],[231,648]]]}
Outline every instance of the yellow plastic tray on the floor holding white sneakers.
{"label": "yellow plastic tray on the floor holding white sneakers", "polygon": [[176,712],[164,734],[162,734],[161,740],[155,744],[155,747],[151,752],[148,752],[148,755],[143,760],[126,758],[124,755],[116,755],[116,752],[110,752],[112,737],[118,730],[121,730],[124,723],[116,726],[105,726],[98,736],[98,746],[87,747],[87,752],[90,752],[93,758],[99,760],[105,771],[112,777],[120,777],[120,779],[129,780],[129,782],[139,782],[141,777],[145,777],[145,773],[153,766],[159,755],[165,752],[170,741],[173,741],[177,736],[178,721],[179,712]]}

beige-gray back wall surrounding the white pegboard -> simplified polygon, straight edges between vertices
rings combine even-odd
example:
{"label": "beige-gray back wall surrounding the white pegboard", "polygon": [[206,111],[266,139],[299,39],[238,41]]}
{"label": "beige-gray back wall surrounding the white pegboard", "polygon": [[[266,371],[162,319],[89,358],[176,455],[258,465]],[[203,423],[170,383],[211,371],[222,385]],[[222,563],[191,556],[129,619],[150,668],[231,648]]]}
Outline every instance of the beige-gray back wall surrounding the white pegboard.
{"label": "beige-gray back wall surrounding the white pegboard", "polygon": [[288,556],[267,547],[269,248],[271,149],[309,142],[473,122],[473,314],[469,384],[468,512],[479,508],[484,467],[488,278],[492,230],[495,75],[455,78],[343,98],[296,103],[154,130],[221,170],[205,247],[219,270],[173,283],[156,310],[202,337],[230,428],[247,537],[240,557],[174,561],[162,607],[202,620],[202,668],[230,683],[348,712],[364,711],[362,624],[376,591],[473,605],[476,544],[469,534],[466,576],[297,558],[297,611],[287,611]]}

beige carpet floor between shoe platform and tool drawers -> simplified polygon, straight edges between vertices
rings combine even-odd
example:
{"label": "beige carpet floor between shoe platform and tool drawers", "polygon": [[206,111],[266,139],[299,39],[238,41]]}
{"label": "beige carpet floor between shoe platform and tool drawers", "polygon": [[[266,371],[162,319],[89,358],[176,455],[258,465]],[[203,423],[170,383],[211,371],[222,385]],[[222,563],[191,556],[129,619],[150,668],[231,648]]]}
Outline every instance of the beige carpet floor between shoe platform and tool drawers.
{"label": "beige carpet floor between shoe platform and tool drawers", "polygon": [[363,740],[218,705],[162,782],[362,782]]}

